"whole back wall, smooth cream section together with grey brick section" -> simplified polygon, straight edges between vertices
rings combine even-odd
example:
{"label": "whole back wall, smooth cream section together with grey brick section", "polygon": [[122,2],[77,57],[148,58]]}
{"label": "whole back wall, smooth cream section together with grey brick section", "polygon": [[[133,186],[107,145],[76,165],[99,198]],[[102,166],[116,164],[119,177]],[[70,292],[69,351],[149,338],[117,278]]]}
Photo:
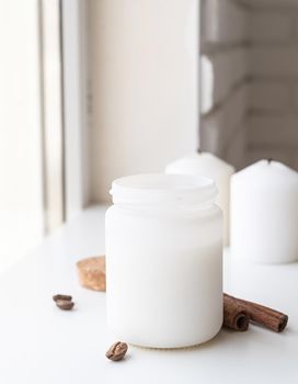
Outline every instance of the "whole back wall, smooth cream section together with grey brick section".
{"label": "whole back wall, smooth cream section together with grey brick section", "polygon": [[[298,168],[298,0],[202,0],[200,147]],[[196,0],[90,0],[91,200],[197,146]]]}

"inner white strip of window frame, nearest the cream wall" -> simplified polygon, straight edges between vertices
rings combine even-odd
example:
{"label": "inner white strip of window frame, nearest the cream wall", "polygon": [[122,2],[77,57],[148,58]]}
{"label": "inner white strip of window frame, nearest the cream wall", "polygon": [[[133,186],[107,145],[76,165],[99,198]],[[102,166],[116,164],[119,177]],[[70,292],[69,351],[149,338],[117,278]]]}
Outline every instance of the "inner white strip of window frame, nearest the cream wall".
{"label": "inner white strip of window frame, nearest the cream wall", "polygon": [[89,205],[91,70],[89,1],[60,0],[66,219]]}

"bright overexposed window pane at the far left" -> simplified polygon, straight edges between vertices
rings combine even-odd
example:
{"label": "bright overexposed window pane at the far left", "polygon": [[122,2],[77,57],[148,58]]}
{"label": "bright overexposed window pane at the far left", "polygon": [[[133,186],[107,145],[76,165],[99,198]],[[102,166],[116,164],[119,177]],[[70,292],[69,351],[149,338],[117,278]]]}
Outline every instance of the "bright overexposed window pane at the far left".
{"label": "bright overexposed window pane at the far left", "polygon": [[43,236],[38,9],[0,0],[0,272]]}

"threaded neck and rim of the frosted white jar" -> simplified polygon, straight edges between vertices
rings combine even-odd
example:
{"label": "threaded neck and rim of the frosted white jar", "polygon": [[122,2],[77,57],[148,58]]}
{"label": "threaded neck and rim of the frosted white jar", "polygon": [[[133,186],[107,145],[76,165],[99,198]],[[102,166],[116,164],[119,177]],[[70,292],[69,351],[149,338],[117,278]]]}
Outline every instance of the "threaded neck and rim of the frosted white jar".
{"label": "threaded neck and rim of the frosted white jar", "polygon": [[194,205],[214,202],[217,188],[200,176],[141,173],[114,180],[110,193],[114,204]]}

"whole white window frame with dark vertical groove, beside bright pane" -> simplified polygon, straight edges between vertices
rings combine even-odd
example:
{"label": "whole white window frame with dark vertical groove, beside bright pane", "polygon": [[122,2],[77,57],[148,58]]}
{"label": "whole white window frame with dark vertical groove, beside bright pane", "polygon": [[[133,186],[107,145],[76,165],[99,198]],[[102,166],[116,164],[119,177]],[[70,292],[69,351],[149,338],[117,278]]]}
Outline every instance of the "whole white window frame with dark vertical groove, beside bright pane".
{"label": "whole white window frame with dark vertical groove, beside bright pane", "polygon": [[89,203],[88,1],[39,0],[45,231]]}

